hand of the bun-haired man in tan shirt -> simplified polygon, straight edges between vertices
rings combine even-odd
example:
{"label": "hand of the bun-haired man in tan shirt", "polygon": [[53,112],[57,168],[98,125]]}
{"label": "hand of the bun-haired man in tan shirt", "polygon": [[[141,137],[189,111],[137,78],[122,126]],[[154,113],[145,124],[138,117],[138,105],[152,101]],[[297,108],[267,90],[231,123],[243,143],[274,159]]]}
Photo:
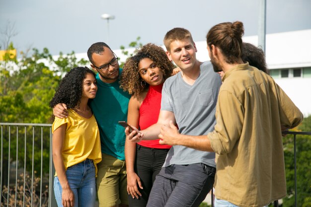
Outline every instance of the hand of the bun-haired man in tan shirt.
{"label": "hand of the bun-haired man in tan shirt", "polygon": [[174,123],[170,121],[169,126],[163,125],[161,127],[161,133],[158,138],[160,139],[160,144],[178,145],[180,134]]}

